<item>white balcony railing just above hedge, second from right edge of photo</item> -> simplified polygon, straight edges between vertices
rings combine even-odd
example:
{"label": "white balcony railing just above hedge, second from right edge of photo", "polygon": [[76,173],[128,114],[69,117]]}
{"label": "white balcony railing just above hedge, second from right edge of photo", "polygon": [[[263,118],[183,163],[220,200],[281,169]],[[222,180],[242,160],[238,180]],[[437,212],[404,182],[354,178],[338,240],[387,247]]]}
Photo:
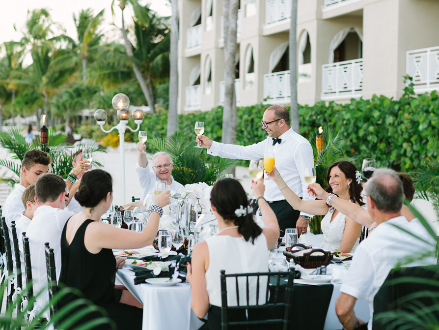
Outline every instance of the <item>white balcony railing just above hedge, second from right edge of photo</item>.
{"label": "white balcony railing just above hedge, second from right edge of photo", "polygon": [[322,99],[359,97],[363,91],[363,59],[322,65]]}

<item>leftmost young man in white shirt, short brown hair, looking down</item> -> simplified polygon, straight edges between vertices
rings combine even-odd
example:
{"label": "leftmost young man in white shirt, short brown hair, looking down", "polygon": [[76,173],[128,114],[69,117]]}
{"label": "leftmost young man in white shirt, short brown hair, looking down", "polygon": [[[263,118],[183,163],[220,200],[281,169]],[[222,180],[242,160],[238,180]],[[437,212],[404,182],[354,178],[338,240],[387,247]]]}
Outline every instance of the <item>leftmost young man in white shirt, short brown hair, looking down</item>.
{"label": "leftmost young man in white shirt, short brown hair, looking down", "polygon": [[[4,216],[6,224],[8,226],[9,237],[12,240],[11,222],[15,221],[17,224],[18,219],[25,211],[23,207],[23,201],[21,199],[23,191],[43,174],[49,171],[49,165],[51,163],[50,156],[41,150],[29,150],[25,153],[23,161],[21,163],[21,178],[20,183],[15,184],[15,189],[6,198],[3,205],[3,212],[1,216]],[[15,268],[15,255],[12,253],[12,260]]]}

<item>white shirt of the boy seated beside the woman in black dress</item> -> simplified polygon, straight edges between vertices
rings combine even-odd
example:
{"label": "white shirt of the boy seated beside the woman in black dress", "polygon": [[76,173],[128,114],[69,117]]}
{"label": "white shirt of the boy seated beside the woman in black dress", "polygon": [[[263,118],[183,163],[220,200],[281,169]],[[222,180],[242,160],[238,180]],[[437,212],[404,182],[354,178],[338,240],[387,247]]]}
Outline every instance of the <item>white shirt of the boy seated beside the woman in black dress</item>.
{"label": "white shirt of the boy seated beside the woman in black dress", "polygon": [[49,302],[47,292],[46,251],[44,243],[49,242],[55,253],[56,279],[61,271],[61,234],[67,220],[73,215],[68,210],[56,209],[48,205],[40,206],[33,214],[27,226],[26,236],[29,238],[30,262],[32,264],[33,292],[43,291],[36,296],[40,310]]}

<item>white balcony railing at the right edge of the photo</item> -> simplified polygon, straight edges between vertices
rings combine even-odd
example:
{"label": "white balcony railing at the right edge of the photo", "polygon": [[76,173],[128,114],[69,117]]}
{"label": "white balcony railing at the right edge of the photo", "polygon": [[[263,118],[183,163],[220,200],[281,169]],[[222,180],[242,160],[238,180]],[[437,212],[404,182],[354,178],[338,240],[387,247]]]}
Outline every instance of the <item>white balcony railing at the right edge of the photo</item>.
{"label": "white balcony railing at the right edge of the photo", "polygon": [[439,46],[408,51],[406,72],[416,91],[439,90]]}

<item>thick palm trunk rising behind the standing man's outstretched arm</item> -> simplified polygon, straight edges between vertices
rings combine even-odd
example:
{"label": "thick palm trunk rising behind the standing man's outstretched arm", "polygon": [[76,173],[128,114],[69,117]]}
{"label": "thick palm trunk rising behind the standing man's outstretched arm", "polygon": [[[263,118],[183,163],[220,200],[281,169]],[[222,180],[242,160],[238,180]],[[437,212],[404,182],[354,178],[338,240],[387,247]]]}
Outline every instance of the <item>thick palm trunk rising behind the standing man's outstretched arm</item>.
{"label": "thick palm trunk rising behind the standing man's outstretched arm", "polygon": [[224,14],[224,110],[222,142],[236,144],[235,54],[239,0],[223,0]]}

